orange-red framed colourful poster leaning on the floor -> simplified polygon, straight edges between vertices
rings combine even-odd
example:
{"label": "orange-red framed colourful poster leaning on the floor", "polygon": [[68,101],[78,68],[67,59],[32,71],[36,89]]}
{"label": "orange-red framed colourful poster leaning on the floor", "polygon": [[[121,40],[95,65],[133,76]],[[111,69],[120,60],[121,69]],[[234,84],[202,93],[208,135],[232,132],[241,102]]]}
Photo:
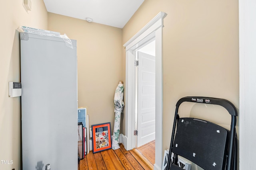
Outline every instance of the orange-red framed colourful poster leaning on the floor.
{"label": "orange-red framed colourful poster leaning on the floor", "polygon": [[112,148],[110,122],[92,125],[92,152]]}

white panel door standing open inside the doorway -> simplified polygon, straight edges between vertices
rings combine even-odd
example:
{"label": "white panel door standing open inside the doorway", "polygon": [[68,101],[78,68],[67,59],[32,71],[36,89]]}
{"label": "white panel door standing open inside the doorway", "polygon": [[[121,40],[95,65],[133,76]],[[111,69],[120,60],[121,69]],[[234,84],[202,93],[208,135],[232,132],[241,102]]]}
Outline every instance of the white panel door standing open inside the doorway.
{"label": "white panel door standing open inside the doorway", "polygon": [[155,140],[155,57],[138,51],[138,143]]}

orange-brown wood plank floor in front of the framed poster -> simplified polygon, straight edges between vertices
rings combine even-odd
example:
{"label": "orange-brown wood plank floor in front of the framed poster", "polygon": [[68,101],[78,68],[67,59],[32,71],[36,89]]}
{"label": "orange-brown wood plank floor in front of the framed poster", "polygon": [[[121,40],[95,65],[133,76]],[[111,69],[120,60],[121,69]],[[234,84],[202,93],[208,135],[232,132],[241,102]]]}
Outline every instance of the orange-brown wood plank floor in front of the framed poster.
{"label": "orange-brown wood plank floor in front of the framed poster", "polygon": [[97,153],[89,152],[80,160],[78,170],[151,170],[134,150],[125,150],[120,144],[120,149],[104,150]]}

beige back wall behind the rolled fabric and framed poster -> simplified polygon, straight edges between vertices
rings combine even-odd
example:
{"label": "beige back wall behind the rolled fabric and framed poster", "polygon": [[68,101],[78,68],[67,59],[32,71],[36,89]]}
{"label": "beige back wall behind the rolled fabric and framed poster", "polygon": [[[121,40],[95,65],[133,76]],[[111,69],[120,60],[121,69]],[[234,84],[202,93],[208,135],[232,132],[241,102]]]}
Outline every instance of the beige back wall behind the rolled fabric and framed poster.
{"label": "beige back wall behind the rolled fabric and framed poster", "polygon": [[[48,29],[77,40],[78,107],[87,107],[90,127],[114,127],[114,92],[122,80],[122,29],[48,13]],[[123,80],[122,80],[123,81]]]}

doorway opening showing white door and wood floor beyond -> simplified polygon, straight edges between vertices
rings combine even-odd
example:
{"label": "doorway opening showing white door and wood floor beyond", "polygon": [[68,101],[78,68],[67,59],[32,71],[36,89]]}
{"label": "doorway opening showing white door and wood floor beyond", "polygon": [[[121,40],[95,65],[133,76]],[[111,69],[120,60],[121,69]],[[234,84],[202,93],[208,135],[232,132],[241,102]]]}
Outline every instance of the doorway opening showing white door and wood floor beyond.
{"label": "doorway opening showing white door and wood floor beyond", "polygon": [[155,163],[156,132],[156,41],[150,39],[136,51],[136,120],[138,156],[152,169]]}

